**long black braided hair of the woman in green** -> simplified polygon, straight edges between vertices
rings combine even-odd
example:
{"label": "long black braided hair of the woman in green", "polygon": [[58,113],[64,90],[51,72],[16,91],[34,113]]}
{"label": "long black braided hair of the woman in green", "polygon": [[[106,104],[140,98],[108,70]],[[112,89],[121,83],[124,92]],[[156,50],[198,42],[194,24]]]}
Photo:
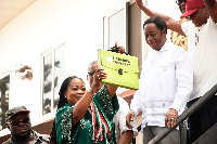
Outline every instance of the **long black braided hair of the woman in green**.
{"label": "long black braided hair of the woman in green", "polygon": [[[63,83],[61,86],[61,89],[59,91],[60,100],[59,100],[59,103],[58,103],[58,109],[61,108],[61,107],[63,107],[65,104],[67,104],[67,99],[65,97],[64,93],[67,90],[68,84],[72,81],[72,79],[75,79],[75,78],[78,78],[78,77],[76,77],[76,76],[67,77],[63,81]],[[80,79],[82,81],[81,78],[78,78],[78,79]],[[53,127],[52,127],[52,130],[51,130],[51,133],[50,133],[50,144],[58,144],[56,129],[55,129],[55,119],[53,120]]]}

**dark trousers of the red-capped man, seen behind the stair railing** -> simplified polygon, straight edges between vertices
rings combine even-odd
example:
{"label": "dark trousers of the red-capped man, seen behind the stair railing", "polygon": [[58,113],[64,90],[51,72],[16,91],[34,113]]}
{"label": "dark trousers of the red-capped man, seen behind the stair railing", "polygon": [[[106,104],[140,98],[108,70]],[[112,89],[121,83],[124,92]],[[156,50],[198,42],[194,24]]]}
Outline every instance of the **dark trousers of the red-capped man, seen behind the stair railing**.
{"label": "dark trousers of the red-capped man, seen behind the stair railing", "polygon": [[[190,107],[199,99],[192,100],[187,103],[187,107]],[[217,96],[209,99],[202,107],[194,112],[188,118],[188,136],[189,143],[193,143],[201,135],[203,135],[206,130],[217,122]]]}

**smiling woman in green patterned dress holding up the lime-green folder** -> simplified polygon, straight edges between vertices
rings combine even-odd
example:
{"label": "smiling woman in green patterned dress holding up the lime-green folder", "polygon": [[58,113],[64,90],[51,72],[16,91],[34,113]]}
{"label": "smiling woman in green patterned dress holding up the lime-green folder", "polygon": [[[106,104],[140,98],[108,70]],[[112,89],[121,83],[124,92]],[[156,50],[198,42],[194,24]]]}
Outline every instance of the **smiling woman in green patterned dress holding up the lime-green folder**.
{"label": "smiling woman in green patterned dress holding up the lime-green folder", "polygon": [[104,84],[101,88],[100,80],[105,78],[103,69],[97,69],[88,91],[78,77],[68,77],[63,81],[51,144],[116,143],[113,117],[119,108],[115,94],[117,87]]}

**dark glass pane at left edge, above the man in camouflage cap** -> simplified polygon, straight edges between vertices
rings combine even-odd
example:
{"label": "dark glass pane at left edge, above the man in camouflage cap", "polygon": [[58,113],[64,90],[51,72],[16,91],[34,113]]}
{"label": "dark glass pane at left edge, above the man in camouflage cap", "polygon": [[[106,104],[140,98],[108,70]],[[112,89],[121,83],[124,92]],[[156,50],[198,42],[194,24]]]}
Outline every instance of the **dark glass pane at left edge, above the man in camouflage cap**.
{"label": "dark glass pane at left edge, above the man in camouflage cap", "polygon": [[9,110],[10,76],[0,80],[0,130],[5,128],[5,112]]}

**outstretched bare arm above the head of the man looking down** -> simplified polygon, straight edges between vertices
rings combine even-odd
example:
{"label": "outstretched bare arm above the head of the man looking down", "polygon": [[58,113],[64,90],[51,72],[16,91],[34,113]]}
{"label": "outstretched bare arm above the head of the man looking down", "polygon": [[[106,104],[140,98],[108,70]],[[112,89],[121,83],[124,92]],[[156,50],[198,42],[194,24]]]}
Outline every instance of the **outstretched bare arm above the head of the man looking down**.
{"label": "outstretched bare arm above the head of the man looking down", "polygon": [[141,9],[148,16],[150,17],[153,17],[153,16],[161,16],[162,18],[164,18],[164,21],[166,22],[167,24],[167,27],[168,29],[171,29],[174,31],[177,31],[179,32],[180,35],[183,35],[183,31],[181,29],[181,22],[178,22],[178,21],[175,21],[171,17],[167,16],[167,15],[164,15],[164,14],[161,14],[161,13],[157,13],[155,11],[152,11],[150,9],[148,9],[143,3],[142,3],[142,0],[136,0],[136,3],[137,3],[137,6],[139,9]]}

